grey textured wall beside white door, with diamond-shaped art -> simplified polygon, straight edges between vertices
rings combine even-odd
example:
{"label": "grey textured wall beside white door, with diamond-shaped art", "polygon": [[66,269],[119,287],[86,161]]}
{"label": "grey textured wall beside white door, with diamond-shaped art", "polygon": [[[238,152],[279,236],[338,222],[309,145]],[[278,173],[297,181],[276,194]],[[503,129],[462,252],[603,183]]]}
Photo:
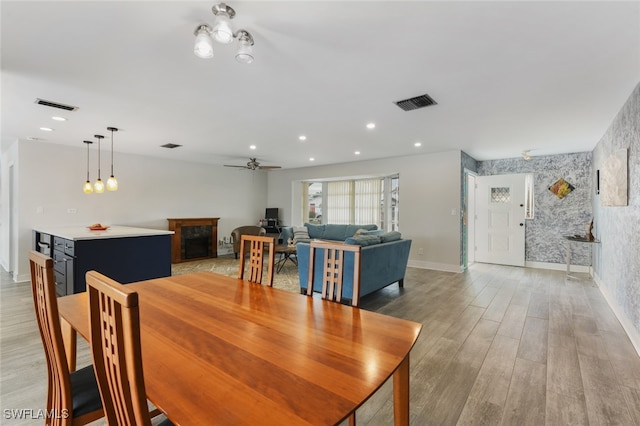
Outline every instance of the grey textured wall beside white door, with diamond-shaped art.
{"label": "grey textured wall beside white door, with diamond-shaped art", "polygon": [[[592,218],[591,153],[521,157],[478,161],[478,175],[533,173],[534,219],[525,224],[525,260],[530,262],[566,263],[563,235],[584,235],[585,224]],[[575,189],[559,199],[549,186],[564,178]],[[596,221],[597,222],[597,221]],[[572,265],[591,265],[589,244],[573,244]]]}

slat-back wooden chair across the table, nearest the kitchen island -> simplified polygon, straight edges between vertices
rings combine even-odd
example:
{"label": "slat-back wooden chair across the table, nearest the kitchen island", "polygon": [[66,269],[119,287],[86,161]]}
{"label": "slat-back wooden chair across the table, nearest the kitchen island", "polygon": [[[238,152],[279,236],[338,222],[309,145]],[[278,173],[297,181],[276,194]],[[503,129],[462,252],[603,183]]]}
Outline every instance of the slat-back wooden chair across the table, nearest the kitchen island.
{"label": "slat-back wooden chair across the table, nearest the kitchen island", "polygon": [[[265,247],[266,246],[266,247]],[[273,286],[273,265],[275,263],[275,238],[256,235],[243,235],[240,239],[240,253],[245,253],[245,247],[249,252],[248,281],[262,284],[262,274],[264,269],[265,251],[268,251],[267,258],[267,280],[265,284]],[[244,270],[247,257],[240,256],[240,267],[238,278],[244,279]]]}

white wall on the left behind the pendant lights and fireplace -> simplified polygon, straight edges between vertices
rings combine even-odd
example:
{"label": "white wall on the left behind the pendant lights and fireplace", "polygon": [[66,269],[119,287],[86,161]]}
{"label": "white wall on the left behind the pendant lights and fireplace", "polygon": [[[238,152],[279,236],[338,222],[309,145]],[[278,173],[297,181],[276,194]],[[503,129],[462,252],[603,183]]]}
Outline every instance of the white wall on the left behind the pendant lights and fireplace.
{"label": "white wall on the left behind the pendant lights and fireplace", "polygon": [[[257,224],[267,201],[266,172],[229,169],[198,163],[171,161],[115,153],[119,189],[104,194],[84,194],[86,149],[44,142],[19,141],[17,149],[2,156],[2,223],[8,223],[5,173],[9,161],[16,167],[19,215],[18,268],[14,279],[28,279],[28,251],[33,248],[36,226],[61,227],[129,225],[167,229],[169,217],[219,217],[218,236],[229,236],[240,225]],[[95,149],[95,148],[94,148]],[[16,155],[17,153],[17,155]],[[102,159],[102,179],[109,177],[108,155]],[[17,158],[16,158],[17,157]],[[105,157],[107,159],[105,159]],[[91,156],[91,180],[97,177],[95,150]],[[7,202],[5,202],[7,199]],[[69,213],[75,209],[76,213]],[[38,213],[42,211],[42,213]],[[8,247],[6,226],[2,247]],[[2,250],[2,265],[9,259]]]}

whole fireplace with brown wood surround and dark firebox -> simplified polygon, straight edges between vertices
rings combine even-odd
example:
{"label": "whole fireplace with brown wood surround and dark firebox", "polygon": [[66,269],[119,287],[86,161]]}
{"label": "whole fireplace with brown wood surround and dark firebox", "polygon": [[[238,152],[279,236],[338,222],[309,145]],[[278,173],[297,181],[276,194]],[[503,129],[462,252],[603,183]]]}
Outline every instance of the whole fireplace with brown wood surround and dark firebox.
{"label": "whole fireplace with brown wood surround and dark firebox", "polygon": [[171,237],[171,263],[218,257],[218,218],[167,219]]}

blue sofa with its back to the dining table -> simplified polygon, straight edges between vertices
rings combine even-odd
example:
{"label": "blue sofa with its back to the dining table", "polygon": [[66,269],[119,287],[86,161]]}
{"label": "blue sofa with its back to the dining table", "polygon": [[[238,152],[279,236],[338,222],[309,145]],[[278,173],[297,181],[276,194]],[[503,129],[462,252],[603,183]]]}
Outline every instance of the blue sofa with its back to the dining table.
{"label": "blue sofa with its back to the dining table", "polygon": [[[362,246],[360,258],[360,297],[380,290],[395,282],[403,285],[404,274],[409,260],[411,240],[402,239],[399,232],[384,233],[377,230],[376,225],[312,225],[305,224],[310,239],[341,241],[347,244]],[[356,231],[361,235],[354,236]],[[282,229],[282,238],[287,241],[293,238],[293,228]],[[298,241],[298,276],[300,292],[306,293],[309,279],[309,243]],[[316,255],[316,268],[322,267],[322,249]],[[353,298],[353,253],[345,257],[345,275],[343,283],[343,299],[351,302]],[[322,290],[319,275],[313,283],[314,291]]]}

